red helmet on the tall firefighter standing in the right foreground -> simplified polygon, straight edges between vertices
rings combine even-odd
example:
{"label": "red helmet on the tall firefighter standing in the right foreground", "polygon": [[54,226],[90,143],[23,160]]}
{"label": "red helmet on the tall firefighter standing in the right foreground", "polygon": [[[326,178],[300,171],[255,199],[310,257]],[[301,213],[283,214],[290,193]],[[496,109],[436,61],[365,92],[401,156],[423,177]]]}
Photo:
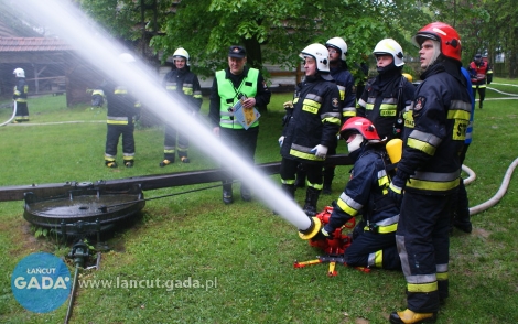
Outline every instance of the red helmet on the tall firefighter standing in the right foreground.
{"label": "red helmet on the tall firefighter standing in the right foreground", "polygon": [[451,25],[444,22],[427,24],[412,37],[412,42],[421,47],[427,39],[441,44],[442,55],[461,62],[461,37]]}

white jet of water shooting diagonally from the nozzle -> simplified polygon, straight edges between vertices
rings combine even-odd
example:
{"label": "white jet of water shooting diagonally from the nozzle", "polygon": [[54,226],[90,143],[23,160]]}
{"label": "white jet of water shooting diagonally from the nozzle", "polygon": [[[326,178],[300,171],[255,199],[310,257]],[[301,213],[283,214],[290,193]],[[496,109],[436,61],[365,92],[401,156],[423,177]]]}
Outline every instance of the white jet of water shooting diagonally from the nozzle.
{"label": "white jet of water shooting diagonally from the nozzle", "polygon": [[[19,10],[23,9],[35,21],[50,26],[93,66],[96,66],[99,71],[109,71],[114,80],[127,85],[150,110],[163,116],[164,122],[176,128],[187,127],[193,130],[197,134],[192,138],[194,144],[203,149],[207,155],[219,162],[220,165],[227,165],[228,161],[231,161],[233,168],[226,171],[249,187],[257,187],[258,190],[255,191],[256,196],[285,220],[303,233],[309,234],[315,230],[314,222],[304,214],[293,199],[281,191],[277,183],[259,172],[255,165],[245,162],[237,152],[230,150],[218,138],[215,138],[211,129],[181,108],[182,105],[169,96],[161,87],[155,71],[149,68],[140,60],[131,68],[119,62],[117,56],[120,53],[131,51],[104,32],[95,22],[73,7],[69,1],[28,0],[23,3],[13,4],[23,6]],[[97,50],[91,51],[91,48]],[[182,121],[181,125],[180,120]]]}

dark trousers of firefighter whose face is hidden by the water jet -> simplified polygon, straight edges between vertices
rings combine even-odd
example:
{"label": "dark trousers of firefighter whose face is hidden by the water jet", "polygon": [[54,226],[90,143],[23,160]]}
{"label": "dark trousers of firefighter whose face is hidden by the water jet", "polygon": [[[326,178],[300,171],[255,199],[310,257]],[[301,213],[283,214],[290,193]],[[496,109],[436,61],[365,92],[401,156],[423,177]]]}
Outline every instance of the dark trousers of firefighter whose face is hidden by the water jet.
{"label": "dark trousers of firefighter whose face is hidden by the water jet", "polygon": [[134,159],[134,126],[128,125],[112,125],[108,123],[108,131],[106,133],[106,150],[105,160],[114,161],[117,156],[117,145],[119,138],[122,136],[122,154],[125,161]]}

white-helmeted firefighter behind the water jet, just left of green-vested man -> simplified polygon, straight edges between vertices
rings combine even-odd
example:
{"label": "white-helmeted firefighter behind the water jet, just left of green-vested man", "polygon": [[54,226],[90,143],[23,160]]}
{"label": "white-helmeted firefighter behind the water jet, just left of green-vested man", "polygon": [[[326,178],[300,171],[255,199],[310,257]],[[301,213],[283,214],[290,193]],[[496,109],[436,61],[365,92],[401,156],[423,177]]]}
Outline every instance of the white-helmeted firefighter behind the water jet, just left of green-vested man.
{"label": "white-helmeted firefighter behind the water jet, just left of green-vested man", "polygon": [[[173,53],[174,67],[169,72],[162,86],[165,90],[174,94],[176,99],[183,99],[182,102],[187,104],[187,109],[196,115],[202,108],[202,87],[199,86],[198,77],[191,72],[191,63],[187,51],[180,47]],[[164,159],[160,162],[160,166],[174,163],[176,151],[176,134],[177,134],[177,153],[180,161],[183,163],[191,162],[188,160],[188,138],[183,132],[177,132],[176,129],[165,123],[164,129]]]}

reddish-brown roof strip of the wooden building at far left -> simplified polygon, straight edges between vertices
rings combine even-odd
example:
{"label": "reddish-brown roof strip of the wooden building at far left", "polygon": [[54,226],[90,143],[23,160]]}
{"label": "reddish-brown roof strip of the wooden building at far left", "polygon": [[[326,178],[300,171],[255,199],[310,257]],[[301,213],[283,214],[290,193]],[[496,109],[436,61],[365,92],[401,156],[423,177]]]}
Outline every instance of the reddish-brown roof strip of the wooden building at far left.
{"label": "reddish-brown roof strip of the wooden building at far left", "polygon": [[0,37],[0,52],[57,52],[71,51],[72,46],[51,37]]}

